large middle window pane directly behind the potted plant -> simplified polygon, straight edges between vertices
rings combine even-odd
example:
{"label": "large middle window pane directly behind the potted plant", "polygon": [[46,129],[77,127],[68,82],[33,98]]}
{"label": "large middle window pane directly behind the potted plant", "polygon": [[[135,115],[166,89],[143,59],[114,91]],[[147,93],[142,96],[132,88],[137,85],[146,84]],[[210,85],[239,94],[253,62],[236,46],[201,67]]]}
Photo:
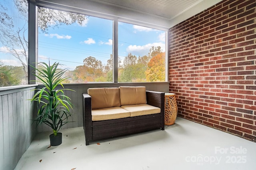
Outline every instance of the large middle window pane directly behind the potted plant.
{"label": "large middle window pane directly behind the potted plant", "polygon": [[66,83],[112,82],[112,20],[38,7],[38,26],[38,62],[63,64]]}

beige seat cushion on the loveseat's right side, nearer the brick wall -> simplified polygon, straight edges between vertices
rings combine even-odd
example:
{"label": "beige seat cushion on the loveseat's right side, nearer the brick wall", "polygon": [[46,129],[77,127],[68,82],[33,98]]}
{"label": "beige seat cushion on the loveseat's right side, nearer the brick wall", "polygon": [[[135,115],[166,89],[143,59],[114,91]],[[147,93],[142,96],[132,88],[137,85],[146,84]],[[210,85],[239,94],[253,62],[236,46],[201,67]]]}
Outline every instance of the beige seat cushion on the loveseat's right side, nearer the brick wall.
{"label": "beige seat cushion on the loveseat's right side, nearer the brick wall", "polygon": [[126,105],[121,106],[121,108],[131,112],[131,117],[161,112],[160,108],[148,104]]}

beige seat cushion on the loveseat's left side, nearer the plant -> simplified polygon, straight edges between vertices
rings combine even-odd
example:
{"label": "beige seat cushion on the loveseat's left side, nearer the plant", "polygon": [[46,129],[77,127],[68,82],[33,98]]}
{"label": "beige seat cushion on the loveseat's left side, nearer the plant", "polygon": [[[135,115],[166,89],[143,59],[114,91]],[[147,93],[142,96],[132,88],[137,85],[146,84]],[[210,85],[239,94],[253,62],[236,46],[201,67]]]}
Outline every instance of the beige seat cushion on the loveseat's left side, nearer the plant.
{"label": "beige seat cushion on the loveseat's left side, nearer the plant", "polygon": [[130,117],[130,112],[120,107],[92,110],[92,121],[120,119],[127,117]]}

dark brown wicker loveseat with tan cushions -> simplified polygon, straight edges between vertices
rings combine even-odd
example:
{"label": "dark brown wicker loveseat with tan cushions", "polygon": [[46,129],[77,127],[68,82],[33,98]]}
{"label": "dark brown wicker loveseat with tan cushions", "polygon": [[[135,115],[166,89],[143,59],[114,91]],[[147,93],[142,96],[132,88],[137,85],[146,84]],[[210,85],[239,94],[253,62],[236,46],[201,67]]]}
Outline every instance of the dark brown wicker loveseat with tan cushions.
{"label": "dark brown wicker loveseat with tan cushions", "polygon": [[83,96],[86,145],[89,142],[160,128],[164,130],[164,93],[144,86],[89,88]]}

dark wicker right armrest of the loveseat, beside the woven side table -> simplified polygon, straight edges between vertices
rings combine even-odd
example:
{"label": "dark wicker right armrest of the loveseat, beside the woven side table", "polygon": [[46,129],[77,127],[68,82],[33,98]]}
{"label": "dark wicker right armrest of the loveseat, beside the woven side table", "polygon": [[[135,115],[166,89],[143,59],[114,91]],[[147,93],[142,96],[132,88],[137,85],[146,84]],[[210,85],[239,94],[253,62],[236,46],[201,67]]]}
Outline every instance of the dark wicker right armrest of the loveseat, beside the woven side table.
{"label": "dark wicker right armrest of the loveseat, beside the woven side table", "polygon": [[164,92],[146,90],[147,104],[161,109],[161,129],[164,130]]}

